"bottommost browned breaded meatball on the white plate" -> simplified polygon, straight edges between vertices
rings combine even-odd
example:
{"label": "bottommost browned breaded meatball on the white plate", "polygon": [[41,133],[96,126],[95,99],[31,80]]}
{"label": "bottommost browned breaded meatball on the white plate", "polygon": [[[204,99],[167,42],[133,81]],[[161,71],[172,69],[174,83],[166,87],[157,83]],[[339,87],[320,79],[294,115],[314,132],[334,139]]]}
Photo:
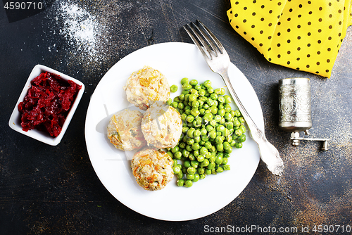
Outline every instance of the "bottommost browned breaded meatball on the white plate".
{"label": "bottommost browned breaded meatball on the white plate", "polygon": [[135,153],[131,163],[137,183],[149,191],[163,189],[171,181],[174,177],[172,165],[168,153],[149,147]]}

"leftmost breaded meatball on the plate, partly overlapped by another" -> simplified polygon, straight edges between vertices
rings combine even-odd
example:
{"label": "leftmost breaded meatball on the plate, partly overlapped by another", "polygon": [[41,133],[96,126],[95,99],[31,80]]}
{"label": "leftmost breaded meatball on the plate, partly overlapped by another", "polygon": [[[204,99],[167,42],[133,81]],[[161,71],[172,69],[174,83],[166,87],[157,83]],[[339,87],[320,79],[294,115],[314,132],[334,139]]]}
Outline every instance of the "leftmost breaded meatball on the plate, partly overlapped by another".
{"label": "leftmost breaded meatball on the plate, partly overlapped by another", "polygon": [[118,149],[131,151],[146,146],[139,110],[124,109],[115,113],[108,124],[108,139]]}

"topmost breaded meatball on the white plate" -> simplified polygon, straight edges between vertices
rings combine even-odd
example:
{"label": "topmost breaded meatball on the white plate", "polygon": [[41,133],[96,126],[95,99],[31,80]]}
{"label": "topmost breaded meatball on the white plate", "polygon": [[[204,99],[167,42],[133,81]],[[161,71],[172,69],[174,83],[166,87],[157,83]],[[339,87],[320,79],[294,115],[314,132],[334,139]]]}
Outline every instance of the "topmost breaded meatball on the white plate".
{"label": "topmost breaded meatball on the white plate", "polygon": [[127,101],[147,110],[153,101],[168,101],[170,86],[166,77],[149,66],[133,72],[127,79],[125,87]]}

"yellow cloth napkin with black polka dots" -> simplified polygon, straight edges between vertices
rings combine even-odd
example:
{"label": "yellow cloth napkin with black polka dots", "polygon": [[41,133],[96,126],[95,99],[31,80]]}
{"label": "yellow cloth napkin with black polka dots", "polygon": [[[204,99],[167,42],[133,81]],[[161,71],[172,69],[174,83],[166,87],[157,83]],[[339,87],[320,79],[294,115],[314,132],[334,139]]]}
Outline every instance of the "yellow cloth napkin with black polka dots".
{"label": "yellow cloth napkin with black polka dots", "polygon": [[230,1],[230,24],[268,61],[330,77],[352,24],[351,0]]}

